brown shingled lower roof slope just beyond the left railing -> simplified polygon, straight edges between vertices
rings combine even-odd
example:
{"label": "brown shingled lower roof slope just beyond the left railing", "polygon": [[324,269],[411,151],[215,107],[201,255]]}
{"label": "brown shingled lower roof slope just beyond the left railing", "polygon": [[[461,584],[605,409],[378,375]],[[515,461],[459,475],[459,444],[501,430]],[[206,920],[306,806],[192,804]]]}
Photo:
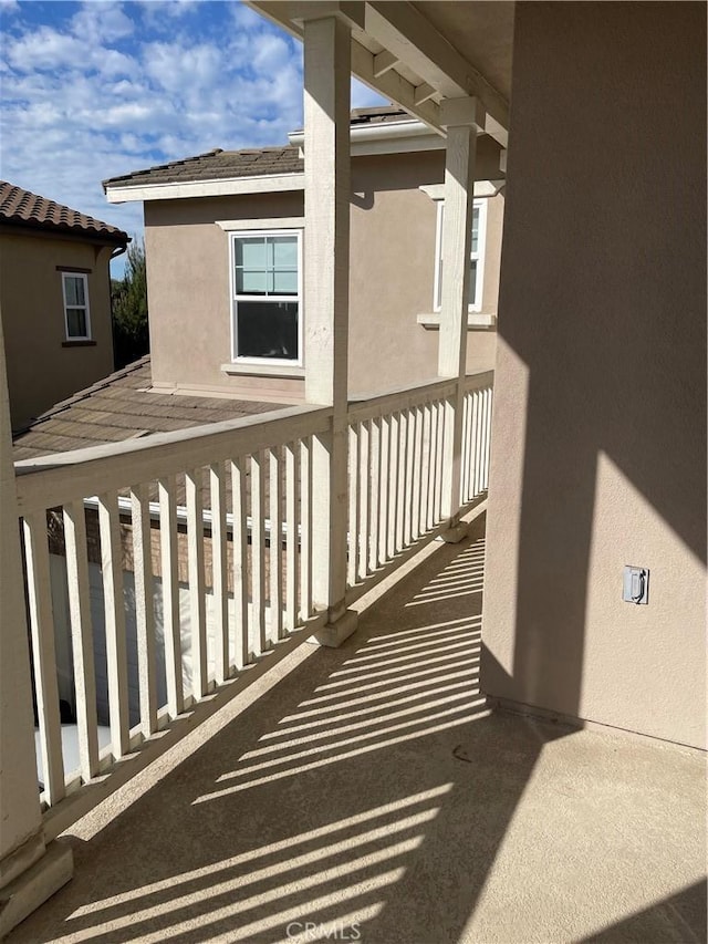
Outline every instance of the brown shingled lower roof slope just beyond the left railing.
{"label": "brown shingled lower roof slope just beyond the left railing", "polygon": [[153,393],[149,355],[58,403],[15,436],[15,460],[278,409],[280,404]]}

